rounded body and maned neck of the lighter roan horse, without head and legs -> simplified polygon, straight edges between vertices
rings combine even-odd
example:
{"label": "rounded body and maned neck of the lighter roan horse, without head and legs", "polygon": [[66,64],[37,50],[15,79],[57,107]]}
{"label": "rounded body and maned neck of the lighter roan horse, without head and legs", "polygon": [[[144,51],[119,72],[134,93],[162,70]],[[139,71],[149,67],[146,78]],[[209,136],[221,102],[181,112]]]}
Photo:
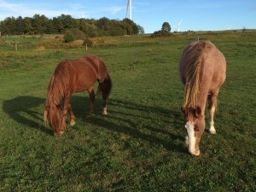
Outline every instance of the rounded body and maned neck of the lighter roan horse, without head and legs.
{"label": "rounded body and maned neck of the lighter roan horse, without head and legs", "polygon": [[183,50],[179,73],[185,84],[184,106],[195,108],[197,96],[208,94],[224,83],[224,55],[209,41],[193,42]]}

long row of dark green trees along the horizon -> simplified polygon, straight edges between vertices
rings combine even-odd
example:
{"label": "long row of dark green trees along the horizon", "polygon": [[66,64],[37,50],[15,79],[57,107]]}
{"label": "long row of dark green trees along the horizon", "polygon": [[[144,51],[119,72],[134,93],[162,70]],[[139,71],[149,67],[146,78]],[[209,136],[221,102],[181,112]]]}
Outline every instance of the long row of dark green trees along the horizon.
{"label": "long row of dark green trees along the horizon", "polygon": [[124,20],[109,20],[102,17],[95,20],[74,19],[71,15],[60,15],[49,19],[45,15],[34,15],[32,18],[7,17],[0,21],[2,35],[64,34],[70,29],[79,29],[84,32],[87,38],[144,33],[142,26],[127,18]]}

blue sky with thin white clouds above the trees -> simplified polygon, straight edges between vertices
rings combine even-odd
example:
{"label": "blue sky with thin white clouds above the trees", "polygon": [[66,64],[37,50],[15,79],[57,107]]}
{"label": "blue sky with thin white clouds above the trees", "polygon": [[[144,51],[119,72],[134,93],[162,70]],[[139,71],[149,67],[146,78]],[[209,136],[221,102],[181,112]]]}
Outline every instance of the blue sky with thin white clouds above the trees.
{"label": "blue sky with thin white clouds above the trees", "polygon": [[[0,20],[7,17],[64,15],[73,18],[123,20],[128,0],[0,0]],[[256,0],[131,0],[132,20],[145,33],[164,22],[181,32],[256,29]]]}

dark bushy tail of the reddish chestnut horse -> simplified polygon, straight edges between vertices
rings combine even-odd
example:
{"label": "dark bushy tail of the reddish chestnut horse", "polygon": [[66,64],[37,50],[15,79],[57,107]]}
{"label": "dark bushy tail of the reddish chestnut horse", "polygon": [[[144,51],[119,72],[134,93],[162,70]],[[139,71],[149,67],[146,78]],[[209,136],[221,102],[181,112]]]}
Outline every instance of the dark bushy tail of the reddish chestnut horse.
{"label": "dark bushy tail of the reddish chestnut horse", "polygon": [[107,99],[112,90],[112,80],[107,73],[106,78],[99,81],[99,86],[96,91],[96,95],[102,95],[104,99]]}

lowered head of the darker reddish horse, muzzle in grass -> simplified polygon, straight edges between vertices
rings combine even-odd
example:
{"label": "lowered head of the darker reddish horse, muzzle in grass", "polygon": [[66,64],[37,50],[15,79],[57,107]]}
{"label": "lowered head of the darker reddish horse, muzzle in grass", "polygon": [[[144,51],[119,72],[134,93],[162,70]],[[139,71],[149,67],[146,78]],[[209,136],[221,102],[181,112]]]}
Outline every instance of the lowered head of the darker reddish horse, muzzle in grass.
{"label": "lowered head of the darker reddish horse, muzzle in grass", "polygon": [[55,137],[60,137],[65,130],[61,127],[61,106],[53,105],[44,109],[44,123],[52,127]]}

